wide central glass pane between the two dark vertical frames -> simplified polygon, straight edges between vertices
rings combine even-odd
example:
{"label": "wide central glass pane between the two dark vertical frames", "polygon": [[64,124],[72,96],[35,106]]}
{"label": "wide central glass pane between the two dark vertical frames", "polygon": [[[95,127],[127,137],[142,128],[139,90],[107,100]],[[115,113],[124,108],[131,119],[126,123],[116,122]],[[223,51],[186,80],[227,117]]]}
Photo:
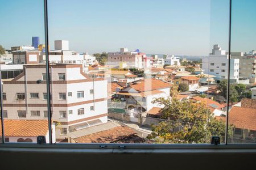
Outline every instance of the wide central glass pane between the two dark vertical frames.
{"label": "wide central glass pane between the two dark vertical frames", "polygon": [[57,142],[224,142],[228,0],[57,0],[48,12]]}

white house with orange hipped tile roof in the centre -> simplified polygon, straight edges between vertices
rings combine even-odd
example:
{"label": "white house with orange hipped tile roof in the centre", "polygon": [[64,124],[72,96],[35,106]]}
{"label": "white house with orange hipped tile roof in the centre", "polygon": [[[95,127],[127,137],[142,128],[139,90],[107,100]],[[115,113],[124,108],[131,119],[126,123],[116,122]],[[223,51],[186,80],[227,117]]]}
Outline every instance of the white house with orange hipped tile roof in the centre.
{"label": "white house with orange hipped tile roof in the centre", "polygon": [[138,114],[150,111],[153,107],[163,108],[163,105],[152,103],[155,99],[170,97],[170,84],[158,79],[142,79],[115,93],[121,101],[126,102],[126,112],[130,120],[138,122]]}

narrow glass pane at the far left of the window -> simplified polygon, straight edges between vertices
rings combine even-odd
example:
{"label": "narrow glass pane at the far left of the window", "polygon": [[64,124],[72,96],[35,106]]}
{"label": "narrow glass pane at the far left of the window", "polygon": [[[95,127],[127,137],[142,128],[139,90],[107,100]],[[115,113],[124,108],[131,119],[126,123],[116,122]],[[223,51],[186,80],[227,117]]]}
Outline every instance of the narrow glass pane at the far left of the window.
{"label": "narrow glass pane at the far left of the window", "polygon": [[5,50],[1,49],[0,70],[6,142],[36,143],[40,135],[49,142],[48,119],[44,116],[47,101],[43,100],[46,81],[42,80],[46,66],[40,61],[43,12],[43,1],[1,1],[0,15],[5,24],[0,24],[0,44]]}

